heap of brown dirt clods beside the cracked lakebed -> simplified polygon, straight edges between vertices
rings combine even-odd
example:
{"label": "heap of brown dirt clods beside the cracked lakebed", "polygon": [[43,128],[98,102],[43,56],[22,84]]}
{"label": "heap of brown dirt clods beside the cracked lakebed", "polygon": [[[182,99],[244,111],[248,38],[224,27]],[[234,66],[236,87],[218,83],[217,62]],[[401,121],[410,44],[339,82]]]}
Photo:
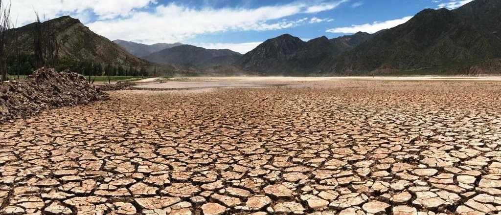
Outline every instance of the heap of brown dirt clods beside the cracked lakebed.
{"label": "heap of brown dirt clods beside the cracked lakebed", "polygon": [[23,81],[0,83],[0,122],[51,107],[87,104],[107,98],[106,93],[87,83],[78,73],[40,68]]}

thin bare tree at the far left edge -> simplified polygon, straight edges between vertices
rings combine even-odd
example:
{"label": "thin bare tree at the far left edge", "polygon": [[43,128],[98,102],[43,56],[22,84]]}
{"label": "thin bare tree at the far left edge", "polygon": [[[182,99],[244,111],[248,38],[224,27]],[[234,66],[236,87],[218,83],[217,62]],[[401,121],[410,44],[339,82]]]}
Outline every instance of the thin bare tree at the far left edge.
{"label": "thin bare tree at the far left edge", "polygon": [[11,5],[0,0],[0,73],[2,81],[7,80],[7,30],[11,28]]}

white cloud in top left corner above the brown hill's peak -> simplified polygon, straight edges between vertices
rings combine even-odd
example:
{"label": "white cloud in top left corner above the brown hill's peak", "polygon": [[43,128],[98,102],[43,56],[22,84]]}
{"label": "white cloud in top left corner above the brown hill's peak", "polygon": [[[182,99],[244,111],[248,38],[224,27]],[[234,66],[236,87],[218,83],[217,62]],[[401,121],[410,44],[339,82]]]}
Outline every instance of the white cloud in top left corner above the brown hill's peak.
{"label": "white cloud in top left corner above the brown hill's peak", "polygon": [[12,0],[11,15],[20,24],[33,22],[35,10],[46,18],[71,14],[90,20],[93,13],[98,19],[109,19],[127,16],[136,8],[156,3],[157,0]]}

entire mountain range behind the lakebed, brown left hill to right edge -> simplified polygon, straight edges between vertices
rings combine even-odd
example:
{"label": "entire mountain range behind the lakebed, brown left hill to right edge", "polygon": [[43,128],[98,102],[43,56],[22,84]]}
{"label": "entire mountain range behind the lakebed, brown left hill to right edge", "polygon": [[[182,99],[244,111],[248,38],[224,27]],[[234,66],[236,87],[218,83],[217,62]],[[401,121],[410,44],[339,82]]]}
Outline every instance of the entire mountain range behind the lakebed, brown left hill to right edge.
{"label": "entire mountain range behind the lakebed, brown left hill to right edge", "polygon": [[[309,41],[284,34],[243,55],[181,43],[112,42],[70,16],[48,22],[60,41],[62,58],[134,67],[156,65],[159,71],[214,75],[492,74],[501,71],[499,11],[501,0],[473,0],[453,10],[424,9],[403,24],[372,34],[357,32]],[[25,53],[33,53],[34,27],[32,23],[16,28]]]}

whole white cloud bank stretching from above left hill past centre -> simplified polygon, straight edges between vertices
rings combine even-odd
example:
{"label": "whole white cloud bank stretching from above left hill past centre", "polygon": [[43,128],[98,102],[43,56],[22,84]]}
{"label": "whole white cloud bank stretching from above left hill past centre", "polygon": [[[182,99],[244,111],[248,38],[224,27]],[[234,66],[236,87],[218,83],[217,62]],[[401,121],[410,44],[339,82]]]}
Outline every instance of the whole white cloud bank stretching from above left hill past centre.
{"label": "whole white cloud bank stretching from above left hill past centre", "polygon": [[18,25],[35,20],[34,10],[54,18],[71,15],[109,39],[143,43],[185,41],[200,34],[224,31],[277,30],[324,19],[287,19],[297,14],[331,10],[348,0],[297,0],[292,3],[249,8],[192,7],[158,0],[13,0]]}

